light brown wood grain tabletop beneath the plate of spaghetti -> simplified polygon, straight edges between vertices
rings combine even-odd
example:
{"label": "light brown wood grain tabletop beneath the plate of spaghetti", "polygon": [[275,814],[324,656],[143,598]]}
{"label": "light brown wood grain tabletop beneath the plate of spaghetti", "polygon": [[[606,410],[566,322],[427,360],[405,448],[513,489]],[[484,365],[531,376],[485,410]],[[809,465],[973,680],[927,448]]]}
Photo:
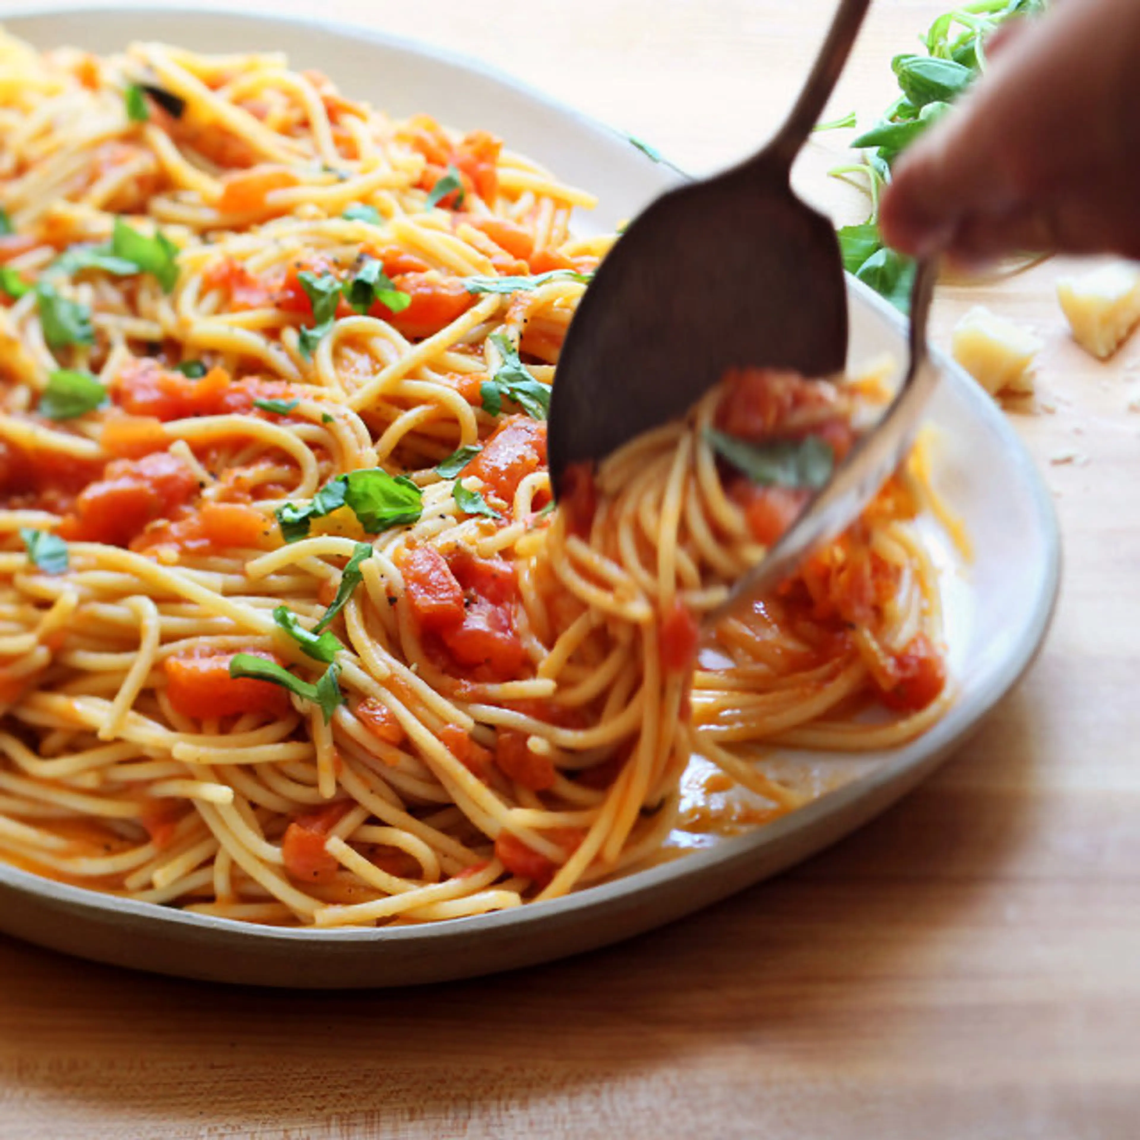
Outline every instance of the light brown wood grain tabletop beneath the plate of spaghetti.
{"label": "light brown wood grain tabletop beneath the plate of spaghetti", "polygon": [[[890,56],[942,7],[879,0],[836,113],[872,119]],[[829,8],[320,5],[482,57],[694,170],[775,124]],[[823,174],[842,144],[821,136],[800,181],[856,220]],[[0,938],[0,1137],[1140,1134],[1140,336],[1107,366],[1084,356],[1061,269],[939,296],[938,343],[974,303],[1047,342],[1036,405],[1012,415],[1056,495],[1065,578],[1035,667],[925,787],[687,921],[473,983],[237,991]]]}

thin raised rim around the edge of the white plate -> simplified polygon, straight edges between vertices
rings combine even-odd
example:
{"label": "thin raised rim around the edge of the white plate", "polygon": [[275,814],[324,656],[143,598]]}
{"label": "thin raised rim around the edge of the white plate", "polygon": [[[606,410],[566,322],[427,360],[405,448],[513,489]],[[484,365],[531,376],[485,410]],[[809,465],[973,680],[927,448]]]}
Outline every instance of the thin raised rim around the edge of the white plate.
{"label": "thin raised rim around the edge of the white plate", "polygon": [[[532,87],[508,71],[491,67],[482,60],[464,56],[449,48],[438,47],[429,41],[413,36],[392,34],[355,23],[343,18],[325,19],[308,14],[272,14],[264,11],[229,11],[214,5],[188,6],[184,3],[163,5],[158,9],[147,8],[144,2],[96,3],[75,7],[56,0],[43,5],[17,3],[0,7],[0,25],[19,35],[19,24],[28,21],[56,19],[100,19],[123,16],[139,16],[162,21],[166,18],[185,18],[203,23],[245,22],[264,24],[267,26],[291,27],[294,30],[319,28],[333,36],[367,40],[369,43],[401,54],[420,57],[427,63],[443,63],[458,71],[474,73],[510,91],[530,104],[557,115],[576,120],[584,128],[610,136],[628,144],[630,136],[621,129],[595,119],[571,104]],[[646,156],[646,162],[662,165],[667,171],[681,178],[690,178],[685,171],[668,158],[658,160]],[[889,323],[902,334],[905,329],[903,316],[883,298],[874,293],[863,282],[847,275],[848,296],[876,312],[880,319]],[[850,782],[831,792],[825,792],[805,807],[798,808],[769,824],[757,828],[744,834],[725,838],[715,847],[686,852],[676,860],[668,860],[654,866],[633,871],[624,877],[612,879],[595,886],[572,891],[561,898],[540,903],[526,903],[519,907],[495,911],[488,914],[472,915],[459,919],[447,919],[421,926],[406,927],[358,927],[316,929],[311,927],[267,927],[236,919],[225,919],[215,915],[195,914],[157,903],[140,902],[106,895],[85,887],[58,882],[42,876],[24,871],[17,866],[0,862],[0,888],[49,903],[57,907],[78,907],[91,917],[128,920],[129,926],[144,923],[148,927],[163,927],[171,933],[194,931],[202,938],[215,937],[219,942],[238,938],[251,946],[262,947],[296,947],[300,945],[319,946],[329,952],[337,947],[360,946],[361,944],[399,945],[402,943],[434,943],[440,939],[453,939],[462,934],[466,937],[491,933],[500,928],[512,928],[524,934],[535,925],[545,925],[559,919],[569,919],[578,911],[593,911],[598,907],[613,906],[636,897],[654,888],[660,888],[670,880],[685,880],[708,873],[720,864],[735,863],[757,854],[765,847],[779,844],[782,839],[797,831],[812,828],[831,815],[840,813],[845,807],[857,805],[862,800],[872,799],[877,792],[882,792],[886,785],[905,783],[903,776],[913,774],[914,779],[901,787],[895,798],[905,795],[913,783],[925,779],[942,760],[956,748],[968,735],[975,732],[994,707],[1009,693],[1025,675],[1044,644],[1050,622],[1059,596],[1061,577],[1061,538],[1057,511],[1048,487],[1042,479],[1032,456],[1021,442],[1017,432],[1009,423],[1001,408],[988,397],[980,385],[970,380],[966,373],[951,360],[946,353],[935,350],[931,353],[943,373],[943,383],[953,384],[958,394],[964,397],[972,416],[980,417],[996,433],[1003,445],[1009,462],[1016,467],[1021,483],[1027,488],[1027,505],[1032,506],[1032,518],[1035,529],[1041,536],[1047,559],[1044,577],[1034,605],[1027,617],[1026,635],[1018,641],[1015,650],[1004,657],[995,669],[993,684],[986,693],[975,702],[976,709],[962,723],[951,720],[953,707],[942,720],[927,733],[910,744],[902,746],[896,756],[888,759],[873,772],[856,776]],[[948,726],[947,726],[948,723]],[[945,730],[939,733],[939,730]],[[931,743],[931,738],[934,738]],[[919,750],[919,755],[909,755],[913,744],[928,746]],[[876,813],[877,814],[877,813]],[[861,824],[860,824],[861,825]],[[849,829],[848,829],[849,830]],[[844,834],[848,833],[847,831]],[[833,840],[832,840],[833,841]],[[826,846],[826,845],[824,845]],[[711,902],[711,899],[709,899]],[[699,904],[706,905],[705,903]],[[694,907],[695,909],[695,907]],[[158,967],[155,968],[162,971]],[[190,976],[190,975],[182,975]],[[456,975],[458,976],[458,975]],[[272,983],[267,983],[272,985]],[[377,983],[372,983],[377,984]]]}

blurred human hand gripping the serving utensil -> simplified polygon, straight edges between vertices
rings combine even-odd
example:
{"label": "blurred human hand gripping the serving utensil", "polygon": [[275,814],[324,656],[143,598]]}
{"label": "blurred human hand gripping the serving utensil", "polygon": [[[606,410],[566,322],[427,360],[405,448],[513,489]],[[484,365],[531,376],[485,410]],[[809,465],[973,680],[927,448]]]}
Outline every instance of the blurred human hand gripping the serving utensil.
{"label": "blurred human hand gripping the serving utensil", "polygon": [[885,239],[966,262],[1140,258],[1140,0],[1061,0],[1003,31],[985,75],[896,163]]}

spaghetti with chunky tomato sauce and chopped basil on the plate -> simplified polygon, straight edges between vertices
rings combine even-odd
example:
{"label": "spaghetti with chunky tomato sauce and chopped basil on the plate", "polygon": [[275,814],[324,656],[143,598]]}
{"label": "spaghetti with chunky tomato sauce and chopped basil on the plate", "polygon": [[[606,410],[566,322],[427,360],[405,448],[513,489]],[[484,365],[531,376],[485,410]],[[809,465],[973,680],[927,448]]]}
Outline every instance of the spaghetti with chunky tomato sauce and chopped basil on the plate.
{"label": "spaghetti with chunky tomato sauce and chopped basil on the plate", "polygon": [[659,858],[691,756],[945,706],[915,455],[700,648],[873,381],[730,375],[554,506],[612,237],[484,132],[275,55],[0,38],[0,855],[227,919],[424,922]]}

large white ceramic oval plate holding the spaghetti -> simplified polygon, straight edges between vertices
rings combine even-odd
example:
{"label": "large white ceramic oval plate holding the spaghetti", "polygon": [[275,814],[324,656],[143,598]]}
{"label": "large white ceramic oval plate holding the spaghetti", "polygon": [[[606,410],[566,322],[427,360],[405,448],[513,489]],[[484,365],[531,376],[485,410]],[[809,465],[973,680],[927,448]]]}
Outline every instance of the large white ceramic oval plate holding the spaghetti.
{"label": "large white ceramic oval plate holding the spaghetti", "polygon": [[[341,90],[397,116],[427,112],[486,128],[601,205],[578,229],[612,229],[676,174],[620,133],[477,64],[360,28],[222,13],[106,9],[10,14],[9,31],[41,48],[100,54],[136,39],[203,51],[284,50]],[[904,358],[903,324],[849,286],[853,361]],[[84,958],[192,978],[274,986],[391,986],[469,977],[617,942],[757,882],[834,842],[928,775],[1017,681],[1044,637],[1057,593],[1052,505],[1001,413],[948,361],[931,407],[942,430],[937,477],[966,521],[976,556],[956,567],[939,546],[951,669],[950,712],[905,748],[830,764],[854,777],[809,806],[739,838],[568,898],[422,928],[278,930],[62,886],[0,865],[0,929]],[[828,767],[826,758],[821,762]],[[757,896],[763,906],[763,896]]]}

